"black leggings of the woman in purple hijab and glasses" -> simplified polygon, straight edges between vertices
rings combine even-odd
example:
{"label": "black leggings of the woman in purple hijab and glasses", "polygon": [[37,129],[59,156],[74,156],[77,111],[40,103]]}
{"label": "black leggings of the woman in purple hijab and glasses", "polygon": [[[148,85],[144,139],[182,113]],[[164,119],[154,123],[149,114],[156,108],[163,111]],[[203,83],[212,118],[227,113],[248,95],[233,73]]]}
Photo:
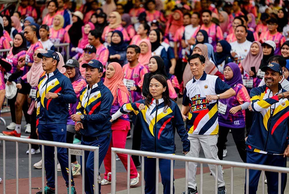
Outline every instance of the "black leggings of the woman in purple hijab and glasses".
{"label": "black leggings of the woman in purple hijab and glasses", "polygon": [[245,127],[243,128],[229,128],[219,126],[219,137],[217,142],[218,147],[218,158],[223,160],[223,148],[227,139],[229,130],[231,129],[234,142],[237,146],[237,150],[243,162],[246,162],[246,144],[245,144]]}

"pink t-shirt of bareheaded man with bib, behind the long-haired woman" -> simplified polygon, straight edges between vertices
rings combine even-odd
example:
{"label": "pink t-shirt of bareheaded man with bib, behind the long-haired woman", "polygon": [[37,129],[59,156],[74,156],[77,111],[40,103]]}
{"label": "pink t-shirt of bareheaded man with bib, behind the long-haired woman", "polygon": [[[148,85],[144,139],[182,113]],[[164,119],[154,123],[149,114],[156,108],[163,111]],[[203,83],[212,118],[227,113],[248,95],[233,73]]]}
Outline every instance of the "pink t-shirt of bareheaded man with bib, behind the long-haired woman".
{"label": "pink t-shirt of bareheaded man with bib, behind the long-haired woman", "polygon": [[[124,72],[124,78],[129,79],[129,80],[134,80],[135,85],[137,85],[142,76],[146,74],[147,68],[145,68],[142,64],[138,63],[135,67],[129,67],[129,63],[123,65],[123,72]],[[131,91],[131,97],[132,101],[136,102],[140,99],[142,99],[142,93],[141,92],[136,92],[136,91]]]}

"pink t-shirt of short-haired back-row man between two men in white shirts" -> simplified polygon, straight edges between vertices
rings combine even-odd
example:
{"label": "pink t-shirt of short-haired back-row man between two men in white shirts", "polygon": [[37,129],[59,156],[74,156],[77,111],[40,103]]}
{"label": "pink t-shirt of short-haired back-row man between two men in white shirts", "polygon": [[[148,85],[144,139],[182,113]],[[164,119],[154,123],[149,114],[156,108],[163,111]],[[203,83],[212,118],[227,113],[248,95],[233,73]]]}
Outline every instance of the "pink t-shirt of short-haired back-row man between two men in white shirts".
{"label": "pink t-shirt of short-haired back-row man between two men in white shirts", "polygon": [[[209,43],[214,47],[214,51],[216,51],[217,42],[224,39],[223,32],[220,26],[211,23],[209,28],[206,28],[205,25],[201,25],[200,30],[205,30],[208,33]],[[197,31],[194,32],[193,37],[196,38]]]}

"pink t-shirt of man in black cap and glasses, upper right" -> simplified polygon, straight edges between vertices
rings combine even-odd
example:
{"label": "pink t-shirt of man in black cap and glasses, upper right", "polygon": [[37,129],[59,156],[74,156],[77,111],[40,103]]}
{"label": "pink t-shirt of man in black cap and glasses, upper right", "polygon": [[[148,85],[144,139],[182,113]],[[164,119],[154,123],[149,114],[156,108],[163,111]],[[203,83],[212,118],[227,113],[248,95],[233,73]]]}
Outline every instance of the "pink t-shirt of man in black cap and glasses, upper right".
{"label": "pink t-shirt of man in black cap and glasses, upper right", "polygon": [[274,54],[275,55],[281,55],[281,45],[286,41],[285,36],[283,36],[283,34],[281,34],[280,32],[277,32],[277,31],[274,35],[270,34],[269,31],[262,32],[260,34],[259,41],[261,43],[264,43],[266,40],[274,41],[276,44],[276,49],[275,49]]}

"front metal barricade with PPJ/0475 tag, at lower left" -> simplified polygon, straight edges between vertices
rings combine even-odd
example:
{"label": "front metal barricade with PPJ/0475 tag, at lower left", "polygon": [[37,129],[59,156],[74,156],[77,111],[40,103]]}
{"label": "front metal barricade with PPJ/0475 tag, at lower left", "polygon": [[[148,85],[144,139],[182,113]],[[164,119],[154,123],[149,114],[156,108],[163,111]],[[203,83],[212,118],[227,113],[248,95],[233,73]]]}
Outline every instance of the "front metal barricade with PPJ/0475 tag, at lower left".
{"label": "front metal barricade with PPJ/0475 tag, at lower left", "polygon": [[[68,148],[68,180],[71,180],[71,155],[82,155],[82,164],[84,164],[84,151],[93,151],[94,152],[94,193],[97,194],[99,191],[99,185],[98,182],[100,180],[99,178],[99,147],[95,146],[86,146],[86,145],[79,145],[79,144],[69,144],[69,143],[62,143],[62,142],[53,142],[53,141],[46,141],[46,140],[35,140],[35,139],[28,139],[28,138],[16,138],[12,136],[0,136],[0,140],[3,140],[3,194],[6,192],[6,178],[5,178],[5,165],[6,165],[6,141],[12,141],[16,142],[16,194],[19,192],[18,182],[19,182],[19,176],[18,176],[18,143],[28,143],[29,146],[29,156],[28,156],[28,165],[29,165],[29,194],[31,194],[31,144],[39,144],[42,147],[42,194],[44,194],[44,146],[52,146],[54,147],[54,171],[55,171],[55,193],[58,193],[58,184],[57,184],[57,147],[62,148]],[[82,174],[82,193],[85,193],[84,191],[84,174],[85,169],[81,169]],[[71,193],[71,184],[69,184],[69,193]]]}

